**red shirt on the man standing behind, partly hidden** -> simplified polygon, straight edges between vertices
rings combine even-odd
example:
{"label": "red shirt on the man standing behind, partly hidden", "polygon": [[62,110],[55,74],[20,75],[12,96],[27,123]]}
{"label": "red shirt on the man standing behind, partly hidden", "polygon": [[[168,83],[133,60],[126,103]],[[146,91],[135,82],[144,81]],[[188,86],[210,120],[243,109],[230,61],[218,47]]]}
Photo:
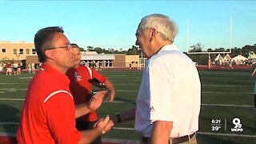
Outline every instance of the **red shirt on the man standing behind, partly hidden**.
{"label": "red shirt on the man standing behind, partly hidden", "polygon": [[[74,97],[74,103],[80,104],[88,102],[88,94],[91,92],[92,85],[88,80],[90,78],[97,78],[100,82],[105,82],[106,77],[99,74],[89,66],[79,65],[76,69],[70,69],[66,75],[70,78],[70,91]],[[80,118],[79,121],[94,122],[98,120],[96,110],[91,111]]]}

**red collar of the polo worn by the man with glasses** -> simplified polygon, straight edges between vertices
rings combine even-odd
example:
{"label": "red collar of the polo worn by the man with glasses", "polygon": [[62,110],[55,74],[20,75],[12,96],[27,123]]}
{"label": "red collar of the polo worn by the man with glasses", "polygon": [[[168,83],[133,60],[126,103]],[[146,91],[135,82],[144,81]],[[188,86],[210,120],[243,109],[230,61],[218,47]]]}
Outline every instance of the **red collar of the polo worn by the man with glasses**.
{"label": "red collar of the polo worn by the man with glasses", "polygon": [[48,74],[53,75],[55,78],[59,78],[66,85],[70,85],[70,79],[66,76],[66,74],[63,74],[59,70],[54,69],[54,67],[46,64],[42,64],[41,70]]}

